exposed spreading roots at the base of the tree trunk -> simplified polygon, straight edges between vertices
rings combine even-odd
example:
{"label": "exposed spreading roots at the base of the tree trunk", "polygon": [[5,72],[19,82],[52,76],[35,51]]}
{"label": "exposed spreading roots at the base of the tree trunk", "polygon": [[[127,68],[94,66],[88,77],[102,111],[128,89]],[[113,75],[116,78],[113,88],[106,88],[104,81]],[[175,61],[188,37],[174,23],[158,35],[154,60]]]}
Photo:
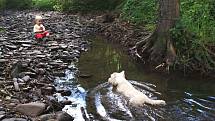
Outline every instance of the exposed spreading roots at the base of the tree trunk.
{"label": "exposed spreading roots at the base of the tree trunk", "polygon": [[[134,47],[131,48],[132,55],[146,62],[155,63],[155,69],[160,67],[166,67],[169,71],[176,59],[176,52],[172,42],[168,38],[159,40],[156,31],[151,33],[145,39],[137,42]],[[166,40],[168,39],[168,40]]]}

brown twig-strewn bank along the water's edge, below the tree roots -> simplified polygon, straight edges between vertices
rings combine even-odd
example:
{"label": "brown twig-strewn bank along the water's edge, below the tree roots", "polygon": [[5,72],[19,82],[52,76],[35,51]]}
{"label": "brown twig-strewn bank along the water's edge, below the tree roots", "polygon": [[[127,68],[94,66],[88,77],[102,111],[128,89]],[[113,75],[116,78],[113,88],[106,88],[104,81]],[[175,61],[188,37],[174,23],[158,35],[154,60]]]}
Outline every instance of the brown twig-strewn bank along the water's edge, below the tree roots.
{"label": "brown twig-strewn bank along the water's edge, below the tree roots", "polygon": [[[119,18],[116,13],[103,14],[97,17],[94,17],[94,20],[97,25],[99,25],[98,34],[104,37],[107,41],[122,46],[122,49],[126,51],[134,60],[137,62],[143,63],[143,68],[148,68],[153,72],[159,73],[177,73],[182,76],[193,76],[194,78],[207,78],[214,79],[214,69],[205,69],[204,64],[201,65],[199,61],[189,61],[189,64],[186,62],[181,62],[182,58],[178,57],[176,61],[171,64],[171,66],[166,66],[165,62],[152,63],[150,60],[147,60],[147,55],[143,56],[144,53],[141,51],[141,48],[138,50],[138,54],[133,50],[133,47],[136,43],[147,38],[151,31],[147,30],[146,27],[141,25],[135,25],[129,23],[129,21],[123,21]],[[195,57],[193,57],[195,58]],[[195,59],[193,59],[195,60]],[[202,69],[199,68],[201,65]],[[204,68],[204,69],[203,69]]]}

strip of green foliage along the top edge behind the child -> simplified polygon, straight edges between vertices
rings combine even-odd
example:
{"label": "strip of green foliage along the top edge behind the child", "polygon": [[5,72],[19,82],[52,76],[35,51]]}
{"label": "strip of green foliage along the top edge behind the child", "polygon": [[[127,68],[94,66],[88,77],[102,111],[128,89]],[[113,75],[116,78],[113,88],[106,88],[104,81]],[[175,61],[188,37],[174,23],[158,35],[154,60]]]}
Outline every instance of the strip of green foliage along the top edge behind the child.
{"label": "strip of green foliage along the top edge behind the child", "polygon": [[29,9],[57,11],[113,10],[123,0],[0,0],[0,9]]}

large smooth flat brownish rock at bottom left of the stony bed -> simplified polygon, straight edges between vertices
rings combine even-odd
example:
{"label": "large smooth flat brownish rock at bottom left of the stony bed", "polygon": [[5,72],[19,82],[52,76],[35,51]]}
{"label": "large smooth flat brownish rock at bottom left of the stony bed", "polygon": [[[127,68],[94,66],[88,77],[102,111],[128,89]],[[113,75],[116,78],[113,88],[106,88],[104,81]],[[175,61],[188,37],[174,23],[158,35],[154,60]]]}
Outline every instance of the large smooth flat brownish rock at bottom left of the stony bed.
{"label": "large smooth flat brownish rock at bottom left of the stony bed", "polygon": [[35,117],[43,113],[45,108],[46,105],[44,103],[32,102],[26,104],[18,104],[16,106],[16,111],[27,116]]}

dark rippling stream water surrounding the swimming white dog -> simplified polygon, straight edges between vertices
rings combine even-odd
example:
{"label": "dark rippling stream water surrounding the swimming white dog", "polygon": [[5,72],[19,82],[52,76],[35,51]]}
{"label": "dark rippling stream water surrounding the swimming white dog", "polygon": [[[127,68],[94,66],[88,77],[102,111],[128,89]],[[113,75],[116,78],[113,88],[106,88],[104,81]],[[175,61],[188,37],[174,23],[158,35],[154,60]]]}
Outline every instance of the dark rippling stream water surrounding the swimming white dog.
{"label": "dark rippling stream water surrounding the swimming white dog", "polygon": [[[91,39],[92,47],[83,53],[76,70],[58,79],[58,87],[72,91],[69,100],[75,104],[64,108],[77,121],[200,121],[215,120],[215,83],[209,80],[185,78],[180,75],[160,75],[132,62],[120,48],[99,37]],[[153,99],[163,99],[166,106],[133,107],[107,83],[110,74],[125,70],[126,78],[136,89]],[[63,86],[64,85],[64,86]],[[66,86],[65,86],[66,85]],[[65,98],[65,97],[60,97]],[[79,114],[79,115],[78,115]]]}

